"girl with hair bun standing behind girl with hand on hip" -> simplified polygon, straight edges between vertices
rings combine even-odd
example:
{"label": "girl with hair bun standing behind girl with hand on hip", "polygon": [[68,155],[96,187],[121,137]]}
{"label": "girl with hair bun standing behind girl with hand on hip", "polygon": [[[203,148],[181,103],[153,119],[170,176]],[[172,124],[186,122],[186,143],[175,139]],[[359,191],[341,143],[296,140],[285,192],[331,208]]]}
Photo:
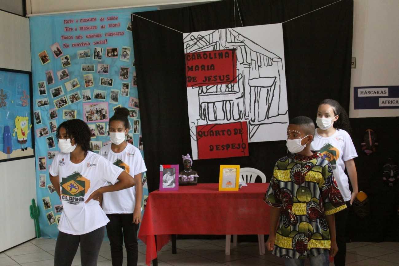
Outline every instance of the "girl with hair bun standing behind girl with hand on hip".
{"label": "girl with hair bun standing behind girl with hand on hip", "polygon": [[117,192],[103,194],[103,209],[110,222],[107,235],[111,246],[112,265],[122,266],[124,243],[127,265],[137,265],[137,231],[141,222],[141,201],[143,187],[142,172],[146,171],[144,160],[138,148],[125,141],[129,131],[129,110],[118,108],[109,119],[111,144],[101,148],[99,154],[134,177],[136,186]]}

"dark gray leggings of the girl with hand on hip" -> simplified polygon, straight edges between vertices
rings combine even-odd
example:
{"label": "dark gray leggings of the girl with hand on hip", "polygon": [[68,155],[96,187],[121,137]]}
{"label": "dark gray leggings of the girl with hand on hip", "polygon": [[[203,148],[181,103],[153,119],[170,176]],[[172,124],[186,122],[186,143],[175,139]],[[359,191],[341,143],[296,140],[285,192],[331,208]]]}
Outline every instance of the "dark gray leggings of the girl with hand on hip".
{"label": "dark gray leggings of the girl with hand on hip", "polygon": [[82,266],[96,266],[105,226],[87,234],[67,234],[59,232],[55,244],[54,266],[71,266],[80,243],[80,261]]}

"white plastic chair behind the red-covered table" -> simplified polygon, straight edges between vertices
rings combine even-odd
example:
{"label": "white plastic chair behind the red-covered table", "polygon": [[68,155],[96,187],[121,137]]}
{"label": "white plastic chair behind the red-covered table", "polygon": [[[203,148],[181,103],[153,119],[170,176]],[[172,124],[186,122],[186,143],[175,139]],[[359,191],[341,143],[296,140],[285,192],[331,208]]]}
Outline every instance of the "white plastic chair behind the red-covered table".
{"label": "white plastic chair behind the red-covered table", "polygon": [[[259,176],[262,179],[262,183],[266,183],[266,175],[255,168],[244,167],[240,169],[240,182],[245,181],[245,183],[255,183],[256,177]],[[230,255],[230,240],[231,234],[226,234],[226,248],[225,253]],[[258,234],[259,242],[259,254],[265,254],[265,236],[263,234]],[[233,247],[237,246],[237,234],[233,235]]]}

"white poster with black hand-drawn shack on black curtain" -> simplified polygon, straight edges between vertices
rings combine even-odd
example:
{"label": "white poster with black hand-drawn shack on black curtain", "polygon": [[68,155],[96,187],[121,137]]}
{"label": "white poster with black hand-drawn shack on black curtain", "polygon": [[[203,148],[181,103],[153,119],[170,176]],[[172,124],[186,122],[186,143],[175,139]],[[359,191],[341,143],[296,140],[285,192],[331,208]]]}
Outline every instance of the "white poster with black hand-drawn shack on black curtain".
{"label": "white poster with black hand-drawn shack on black curtain", "polygon": [[[184,34],[186,54],[225,49],[236,51],[235,80],[187,88],[195,159],[198,125],[247,121],[249,142],[285,139],[288,106],[282,24]],[[197,71],[208,67],[199,66]]]}

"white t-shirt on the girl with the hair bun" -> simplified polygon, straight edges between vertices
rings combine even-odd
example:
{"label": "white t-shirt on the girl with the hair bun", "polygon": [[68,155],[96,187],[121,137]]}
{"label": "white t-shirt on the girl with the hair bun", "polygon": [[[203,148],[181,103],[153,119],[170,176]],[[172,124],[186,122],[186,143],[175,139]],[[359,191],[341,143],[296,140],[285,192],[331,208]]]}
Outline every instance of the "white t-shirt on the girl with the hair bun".
{"label": "white t-shirt on the girl with the hair bun", "polygon": [[[130,143],[127,143],[126,148],[120,153],[113,152],[111,144],[108,144],[101,148],[99,154],[124,169],[132,177],[147,170],[140,150]],[[103,210],[107,214],[133,213],[136,204],[135,196],[136,186],[103,193]]]}

